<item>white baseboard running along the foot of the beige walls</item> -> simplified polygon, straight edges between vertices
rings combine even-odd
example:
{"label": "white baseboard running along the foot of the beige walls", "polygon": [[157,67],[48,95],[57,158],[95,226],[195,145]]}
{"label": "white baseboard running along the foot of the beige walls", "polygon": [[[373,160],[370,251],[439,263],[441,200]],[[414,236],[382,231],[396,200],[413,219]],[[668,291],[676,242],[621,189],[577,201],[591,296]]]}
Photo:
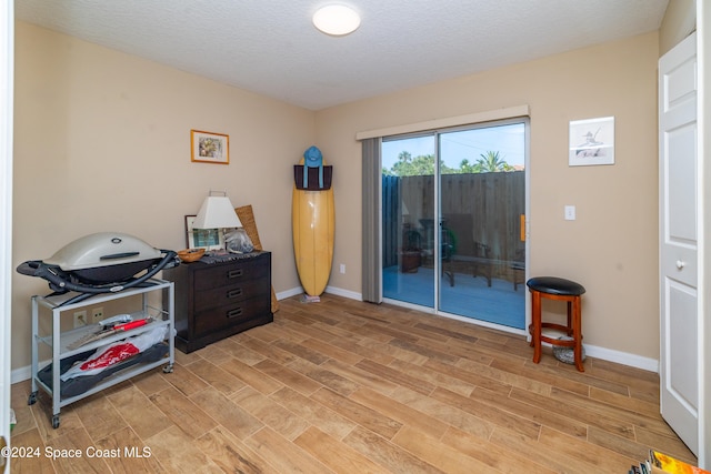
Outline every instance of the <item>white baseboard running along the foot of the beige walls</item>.
{"label": "white baseboard running along the foot of the beige walls", "polygon": [[[363,301],[361,293],[357,293],[350,290],[343,290],[336,286],[327,286],[326,292],[334,294],[337,296],[348,297],[350,300]],[[277,293],[277,300],[283,300],[287,297],[296,296],[297,294],[300,294],[300,293],[303,293],[303,289],[301,286],[297,286],[291,290]],[[461,321],[465,321],[471,324],[477,324],[475,320],[461,319]],[[589,345],[589,344],[585,344],[585,354],[590,355],[591,357],[602,359],[603,361],[617,362],[618,364],[629,365],[631,367],[642,369],[644,371],[659,373],[659,361],[655,359],[642,357],[641,355],[630,354],[628,352],[614,351],[612,349],[600,347],[597,345]],[[46,363],[41,363],[40,366],[44,366],[44,364]],[[31,374],[32,374],[32,370],[30,365],[16,369],[10,373],[10,383],[18,383],[18,382],[29,380],[31,377]]]}

